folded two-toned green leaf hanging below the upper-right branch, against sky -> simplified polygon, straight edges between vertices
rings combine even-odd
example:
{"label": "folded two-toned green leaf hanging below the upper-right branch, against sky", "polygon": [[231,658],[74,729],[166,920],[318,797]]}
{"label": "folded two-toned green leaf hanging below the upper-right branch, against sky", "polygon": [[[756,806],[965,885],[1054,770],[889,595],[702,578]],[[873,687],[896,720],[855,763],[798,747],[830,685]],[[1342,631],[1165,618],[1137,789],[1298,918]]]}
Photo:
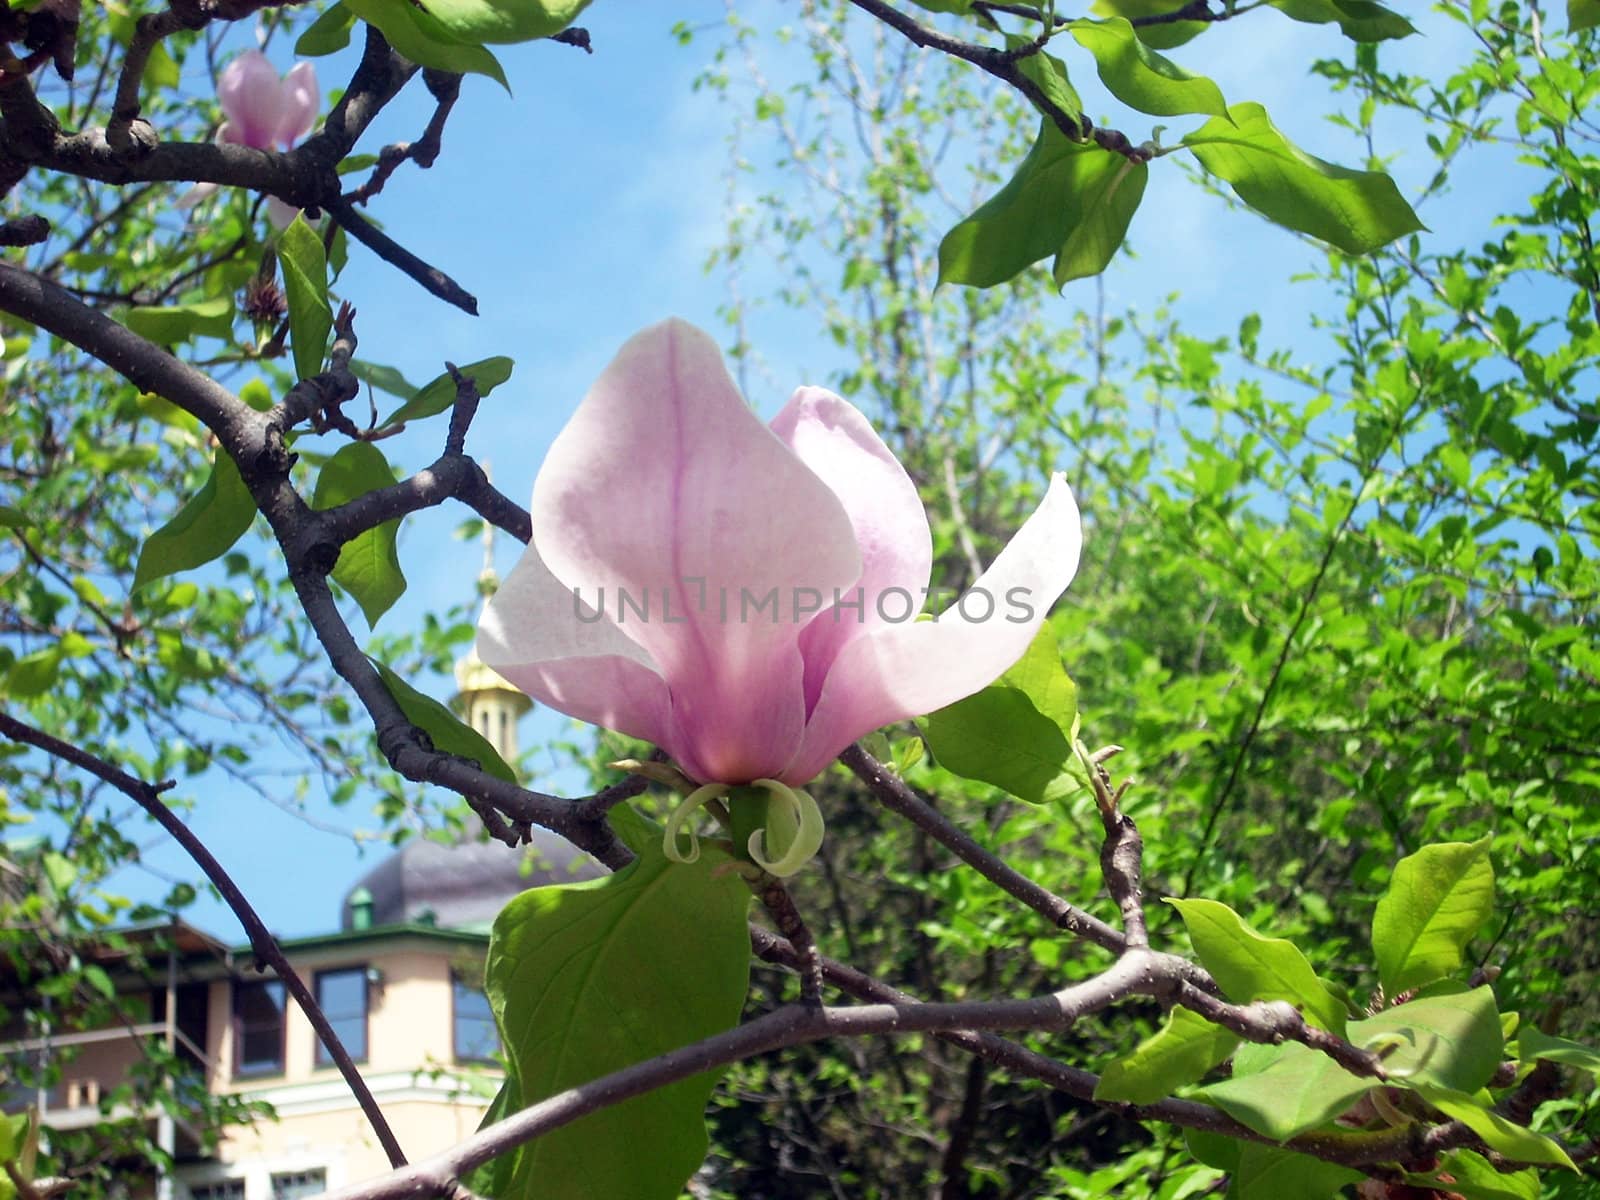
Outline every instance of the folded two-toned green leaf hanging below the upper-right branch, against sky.
{"label": "folded two-toned green leaf hanging below the upper-right branch, against sky", "polygon": [[1149,168],[1093,144],[1070,142],[1051,122],[1011,181],[939,243],[939,283],[990,288],[1056,256],[1054,280],[1106,269],[1144,198]]}

